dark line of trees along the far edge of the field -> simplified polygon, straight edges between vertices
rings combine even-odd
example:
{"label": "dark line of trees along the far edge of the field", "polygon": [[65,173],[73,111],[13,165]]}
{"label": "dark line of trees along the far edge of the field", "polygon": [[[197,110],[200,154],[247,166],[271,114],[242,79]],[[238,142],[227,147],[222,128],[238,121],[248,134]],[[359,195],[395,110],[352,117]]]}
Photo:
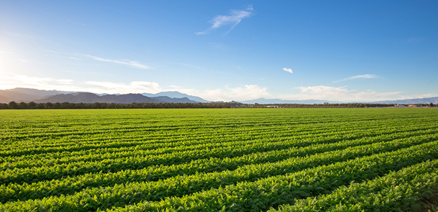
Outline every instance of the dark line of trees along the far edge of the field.
{"label": "dark line of trees along the far edge of the field", "polygon": [[[415,107],[434,107],[430,104],[414,104]],[[394,107],[394,104],[375,103],[324,103],[324,104],[244,104],[244,103],[0,103],[0,109],[140,109],[140,108],[365,108]],[[407,106],[407,105],[405,105]]]}

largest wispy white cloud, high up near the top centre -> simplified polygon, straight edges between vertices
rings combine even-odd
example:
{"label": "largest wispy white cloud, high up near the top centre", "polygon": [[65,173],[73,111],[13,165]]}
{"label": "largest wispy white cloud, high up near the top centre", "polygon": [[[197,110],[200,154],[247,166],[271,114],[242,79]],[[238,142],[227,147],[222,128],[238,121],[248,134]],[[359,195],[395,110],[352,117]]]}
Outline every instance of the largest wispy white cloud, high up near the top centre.
{"label": "largest wispy white cloud, high up near the top centre", "polygon": [[224,25],[232,25],[226,34],[229,34],[231,30],[237,26],[244,18],[248,18],[253,14],[253,6],[248,6],[246,10],[230,10],[229,15],[221,15],[214,17],[210,23],[211,27],[205,31],[196,32],[197,35],[207,34],[213,29],[217,29]]}

